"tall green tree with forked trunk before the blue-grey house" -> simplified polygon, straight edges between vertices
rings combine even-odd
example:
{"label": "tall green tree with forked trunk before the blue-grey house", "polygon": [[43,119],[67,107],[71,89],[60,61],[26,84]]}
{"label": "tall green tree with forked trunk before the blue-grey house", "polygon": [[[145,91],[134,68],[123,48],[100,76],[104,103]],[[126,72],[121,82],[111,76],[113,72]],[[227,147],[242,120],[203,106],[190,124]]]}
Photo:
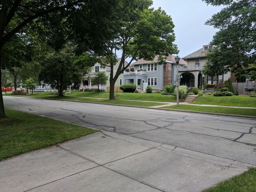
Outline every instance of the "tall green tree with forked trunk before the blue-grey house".
{"label": "tall green tree with forked trunk before the blue-grey house", "polygon": [[[173,44],[174,24],[171,16],[161,8],[154,10],[148,7],[151,0],[123,0],[119,2],[116,35],[106,46],[108,52],[104,55],[102,65],[110,66],[110,92],[109,99],[114,99],[114,86],[118,76],[136,59],[144,58],[152,60],[155,55],[160,55],[159,61],[164,60],[164,55],[178,53],[177,46]],[[113,68],[117,63],[116,51],[121,50],[121,62],[117,66],[117,72],[113,74]],[[125,59],[131,58],[128,64]]]}

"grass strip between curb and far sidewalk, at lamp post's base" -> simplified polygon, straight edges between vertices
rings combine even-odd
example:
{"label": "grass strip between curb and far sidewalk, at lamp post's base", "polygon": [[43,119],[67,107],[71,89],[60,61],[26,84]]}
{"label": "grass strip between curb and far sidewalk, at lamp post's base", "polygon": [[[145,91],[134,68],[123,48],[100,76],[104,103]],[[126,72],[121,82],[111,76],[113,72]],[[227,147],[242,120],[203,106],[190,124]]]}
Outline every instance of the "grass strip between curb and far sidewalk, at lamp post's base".
{"label": "grass strip between curb and far sidewalk, at lamp post's base", "polygon": [[241,109],[241,108],[230,108],[230,107],[205,107],[197,105],[176,105],[163,107],[166,109],[179,109],[185,111],[202,111],[202,112],[211,112],[211,113],[224,113],[224,114],[239,114],[247,116],[256,116],[256,109]]}

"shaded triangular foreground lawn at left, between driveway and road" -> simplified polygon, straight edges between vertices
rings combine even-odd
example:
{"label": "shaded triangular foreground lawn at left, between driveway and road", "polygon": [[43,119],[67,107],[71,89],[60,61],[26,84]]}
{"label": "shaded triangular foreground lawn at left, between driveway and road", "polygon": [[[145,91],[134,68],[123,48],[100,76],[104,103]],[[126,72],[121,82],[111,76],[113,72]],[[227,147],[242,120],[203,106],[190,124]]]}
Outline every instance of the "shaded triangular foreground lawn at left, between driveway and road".
{"label": "shaded triangular foreground lawn at left, between driveway and road", "polygon": [[5,109],[0,119],[0,160],[97,132],[70,123]]}

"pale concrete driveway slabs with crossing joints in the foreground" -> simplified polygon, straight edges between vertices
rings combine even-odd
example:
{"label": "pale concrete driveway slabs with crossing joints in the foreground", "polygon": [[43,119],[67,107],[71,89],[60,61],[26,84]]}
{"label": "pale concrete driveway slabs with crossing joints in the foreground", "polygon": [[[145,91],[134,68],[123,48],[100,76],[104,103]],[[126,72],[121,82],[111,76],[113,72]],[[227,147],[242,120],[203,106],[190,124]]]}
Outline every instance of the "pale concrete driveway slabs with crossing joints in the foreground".
{"label": "pale concrete driveway slabs with crossing joints in the foreground", "polygon": [[200,192],[251,166],[104,133],[1,161],[1,192]]}

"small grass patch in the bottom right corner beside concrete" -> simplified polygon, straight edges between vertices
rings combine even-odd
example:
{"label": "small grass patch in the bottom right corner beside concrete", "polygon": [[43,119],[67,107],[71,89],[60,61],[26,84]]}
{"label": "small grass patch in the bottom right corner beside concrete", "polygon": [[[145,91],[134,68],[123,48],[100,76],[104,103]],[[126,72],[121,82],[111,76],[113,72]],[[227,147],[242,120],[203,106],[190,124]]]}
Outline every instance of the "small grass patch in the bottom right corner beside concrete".
{"label": "small grass patch in the bottom right corner beside concrete", "polygon": [[256,168],[236,175],[231,179],[222,181],[217,186],[204,190],[204,192],[255,192],[256,191]]}

